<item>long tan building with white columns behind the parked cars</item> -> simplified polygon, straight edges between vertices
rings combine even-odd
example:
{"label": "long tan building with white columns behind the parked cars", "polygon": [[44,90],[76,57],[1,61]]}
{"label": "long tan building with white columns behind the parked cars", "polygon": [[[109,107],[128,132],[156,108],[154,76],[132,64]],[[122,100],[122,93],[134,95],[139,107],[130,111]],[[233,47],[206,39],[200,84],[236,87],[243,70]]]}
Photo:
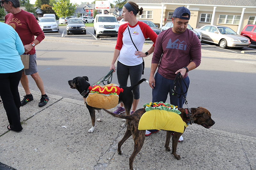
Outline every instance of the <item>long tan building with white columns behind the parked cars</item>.
{"label": "long tan building with white columns behind the parked cars", "polygon": [[152,20],[162,27],[172,22],[173,11],[185,6],[191,12],[189,24],[198,28],[207,24],[223,25],[241,33],[247,24],[256,24],[256,0],[128,0],[143,8],[137,18]]}

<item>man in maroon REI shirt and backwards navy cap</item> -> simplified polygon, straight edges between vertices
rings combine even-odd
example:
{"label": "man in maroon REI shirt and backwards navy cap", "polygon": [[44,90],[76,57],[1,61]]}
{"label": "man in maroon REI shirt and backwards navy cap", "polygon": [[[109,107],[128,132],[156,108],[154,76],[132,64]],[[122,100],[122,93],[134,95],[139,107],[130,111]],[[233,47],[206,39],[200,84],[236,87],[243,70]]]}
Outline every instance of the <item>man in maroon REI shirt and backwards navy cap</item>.
{"label": "man in maroon REI shirt and backwards navy cap", "polygon": [[[173,27],[162,31],[156,38],[149,77],[152,102],[165,102],[169,94],[172,105],[182,108],[185,103],[183,97],[172,95],[174,79],[180,72],[189,86],[188,71],[201,63],[201,43],[196,34],[187,29],[189,19],[190,11],[186,7],[176,8],[172,17]],[[186,89],[183,81],[182,88]],[[156,130],[147,130],[146,136],[151,132]],[[183,141],[182,136],[179,141]]]}

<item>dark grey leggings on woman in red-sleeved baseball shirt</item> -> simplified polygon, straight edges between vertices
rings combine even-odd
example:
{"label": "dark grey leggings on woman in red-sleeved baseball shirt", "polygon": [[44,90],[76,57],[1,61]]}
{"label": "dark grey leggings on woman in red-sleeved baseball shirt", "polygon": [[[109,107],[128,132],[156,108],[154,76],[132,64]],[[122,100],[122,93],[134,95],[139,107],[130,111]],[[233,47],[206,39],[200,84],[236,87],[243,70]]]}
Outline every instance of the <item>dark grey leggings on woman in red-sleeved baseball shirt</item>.
{"label": "dark grey leggings on woman in red-sleeved baseball shirt", "polygon": [[[130,76],[131,85],[136,84],[141,79],[143,70],[142,63],[135,66],[127,66],[117,61],[116,74],[120,86],[127,86],[128,77]],[[134,99],[140,99],[140,85],[132,90]]]}

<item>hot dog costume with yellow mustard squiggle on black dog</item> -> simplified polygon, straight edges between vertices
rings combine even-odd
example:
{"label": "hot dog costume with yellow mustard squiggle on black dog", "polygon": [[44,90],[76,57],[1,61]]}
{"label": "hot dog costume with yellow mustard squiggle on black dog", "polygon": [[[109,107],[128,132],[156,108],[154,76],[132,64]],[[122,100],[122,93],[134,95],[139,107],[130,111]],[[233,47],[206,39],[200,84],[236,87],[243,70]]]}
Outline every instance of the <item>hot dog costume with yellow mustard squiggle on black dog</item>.
{"label": "hot dog costume with yellow mustard squiggle on black dog", "polygon": [[116,84],[108,84],[108,85],[95,85],[89,87],[89,94],[86,98],[86,103],[89,106],[103,108],[103,109],[111,109],[116,107],[119,100],[120,92],[124,90]]}

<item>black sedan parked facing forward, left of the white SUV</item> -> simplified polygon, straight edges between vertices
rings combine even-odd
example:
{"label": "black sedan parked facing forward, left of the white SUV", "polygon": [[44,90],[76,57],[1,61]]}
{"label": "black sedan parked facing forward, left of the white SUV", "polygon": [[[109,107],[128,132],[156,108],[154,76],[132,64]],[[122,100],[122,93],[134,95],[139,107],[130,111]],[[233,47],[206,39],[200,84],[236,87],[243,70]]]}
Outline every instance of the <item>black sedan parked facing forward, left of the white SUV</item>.
{"label": "black sedan parked facing forward, left of the white SUV", "polygon": [[86,34],[86,26],[81,18],[69,18],[67,34]]}

